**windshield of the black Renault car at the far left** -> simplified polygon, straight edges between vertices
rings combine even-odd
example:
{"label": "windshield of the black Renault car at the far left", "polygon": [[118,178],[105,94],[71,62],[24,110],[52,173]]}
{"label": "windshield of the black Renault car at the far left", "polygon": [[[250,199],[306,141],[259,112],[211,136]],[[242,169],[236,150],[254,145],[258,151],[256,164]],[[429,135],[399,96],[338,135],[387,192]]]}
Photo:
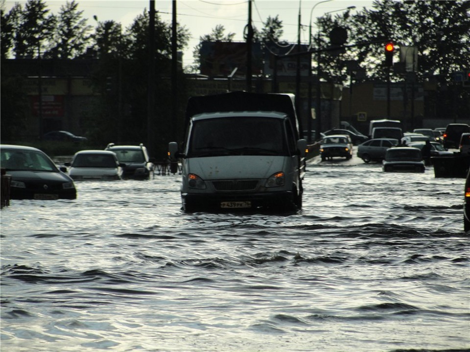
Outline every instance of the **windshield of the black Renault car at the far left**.
{"label": "windshield of the black Renault car at the far left", "polygon": [[15,171],[59,172],[45,154],[27,150],[1,150],[1,167]]}

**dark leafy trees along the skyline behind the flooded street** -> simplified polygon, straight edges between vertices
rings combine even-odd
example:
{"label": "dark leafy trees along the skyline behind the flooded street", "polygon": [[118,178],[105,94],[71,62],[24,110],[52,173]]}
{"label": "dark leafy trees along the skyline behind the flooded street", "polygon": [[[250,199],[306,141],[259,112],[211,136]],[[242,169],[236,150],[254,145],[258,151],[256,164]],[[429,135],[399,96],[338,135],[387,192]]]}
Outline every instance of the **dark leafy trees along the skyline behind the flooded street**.
{"label": "dark leafy trees along the skyline behind the flooded street", "polygon": [[[89,21],[95,23],[94,26]],[[126,110],[123,125],[129,126],[128,139],[141,140],[146,128],[147,72],[148,72],[148,23],[149,13],[145,9],[131,25],[123,28],[115,21],[100,22],[99,19],[83,18],[79,3],[67,2],[56,14],[50,13],[43,0],[29,0],[24,6],[15,4],[8,11],[1,1],[1,59],[57,59],[82,60],[94,59],[99,62],[99,69],[90,73],[97,90],[105,91],[109,78],[117,77],[122,70],[122,94],[125,101],[120,106]],[[334,83],[348,83],[354,74],[354,83],[361,81],[384,81],[383,44],[393,41],[398,47],[416,47],[418,68],[414,72],[416,82],[436,82],[443,89],[443,111],[446,104],[451,104],[445,87],[454,83],[456,71],[470,69],[470,1],[374,1],[370,9],[357,9],[331,16],[327,14],[316,19],[312,48],[329,45],[329,33],[334,27],[347,29],[346,45],[357,45],[341,53],[330,52],[321,56],[322,79]],[[244,27],[244,26],[243,26]],[[243,30],[240,28],[240,31]],[[279,16],[269,17],[262,28],[254,28],[254,40],[263,43],[271,40],[281,45],[282,20]],[[183,50],[188,45],[190,33],[184,25],[177,25],[177,47]],[[200,37],[203,41],[232,41],[234,33],[225,33],[223,25],[216,26],[212,33]],[[185,67],[186,73],[199,70],[199,47],[194,48],[194,64]],[[172,116],[168,82],[164,77],[171,73],[171,23],[164,22],[158,12],[155,15],[155,58],[157,80],[155,96],[157,110]],[[395,61],[398,61],[398,54]],[[124,69],[122,65],[125,63]],[[317,66],[314,59],[313,67]],[[3,67],[3,65],[2,65]],[[120,67],[120,68],[119,68]],[[392,75],[393,81],[403,80],[403,75]],[[187,75],[178,72],[178,116],[182,116],[187,99]],[[468,88],[459,88],[459,101],[468,99]],[[465,100],[464,98],[467,97]],[[93,118],[88,119],[84,130],[97,142],[112,140],[115,111],[110,106],[117,106],[116,95],[103,95],[96,106]],[[463,99],[463,100],[460,100]],[[16,131],[22,128],[24,121],[25,97],[22,94],[22,80],[15,72],[1,70],[1,138],[14,138]],[[113,105],[114,104],[114,105]],[[469,103],[462,109],[469,110]],[[113,112],[111,112],[113,111]],[[181,126],[181,125],[180,125]],[[169,127],[168,127],[169,128]],[[165,139],[168,128],[159,126],[157,139]],[[157,141],[159,143],[159,141]]]}

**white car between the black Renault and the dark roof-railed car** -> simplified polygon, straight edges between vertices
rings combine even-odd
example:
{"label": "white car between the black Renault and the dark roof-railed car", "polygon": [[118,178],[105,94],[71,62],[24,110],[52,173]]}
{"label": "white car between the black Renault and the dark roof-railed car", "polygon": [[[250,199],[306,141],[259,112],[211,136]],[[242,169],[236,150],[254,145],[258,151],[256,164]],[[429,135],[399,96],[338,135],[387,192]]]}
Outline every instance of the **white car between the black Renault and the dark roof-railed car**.
{"label": "white car between the black Renault and the dark roof-railed car", "polygon": [[100,150],[83,150],[75,153],[69,166],[69,175],[74,180],[118,180],[122,178],[122,167],[116,153]]}

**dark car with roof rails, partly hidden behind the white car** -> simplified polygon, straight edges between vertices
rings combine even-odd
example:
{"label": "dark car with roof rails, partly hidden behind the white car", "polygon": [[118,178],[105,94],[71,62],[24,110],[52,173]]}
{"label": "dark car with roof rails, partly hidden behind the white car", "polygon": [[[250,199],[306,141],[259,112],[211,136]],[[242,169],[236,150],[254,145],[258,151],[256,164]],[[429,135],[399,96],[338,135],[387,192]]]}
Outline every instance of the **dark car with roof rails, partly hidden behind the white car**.
{"label": "dark car with roof rails, partly hidden behind the white car", "polygon": [[148,156],[147,148],[138,146],[108,144],[106,150],[116,153],[122,167],[122,178],[148,179],[154,176],[155,158]]}

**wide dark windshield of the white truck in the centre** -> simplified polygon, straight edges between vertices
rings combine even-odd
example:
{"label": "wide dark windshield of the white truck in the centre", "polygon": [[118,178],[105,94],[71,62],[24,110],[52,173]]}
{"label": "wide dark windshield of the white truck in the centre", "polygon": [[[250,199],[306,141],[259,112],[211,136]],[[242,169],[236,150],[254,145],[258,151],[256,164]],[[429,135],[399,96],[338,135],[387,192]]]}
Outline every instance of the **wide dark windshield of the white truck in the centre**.
{"label": "wide dark windshield of the white truck in the centre", "polygon": [[194,121],[188,156],[288,155],[283,120],[221,117]]}

